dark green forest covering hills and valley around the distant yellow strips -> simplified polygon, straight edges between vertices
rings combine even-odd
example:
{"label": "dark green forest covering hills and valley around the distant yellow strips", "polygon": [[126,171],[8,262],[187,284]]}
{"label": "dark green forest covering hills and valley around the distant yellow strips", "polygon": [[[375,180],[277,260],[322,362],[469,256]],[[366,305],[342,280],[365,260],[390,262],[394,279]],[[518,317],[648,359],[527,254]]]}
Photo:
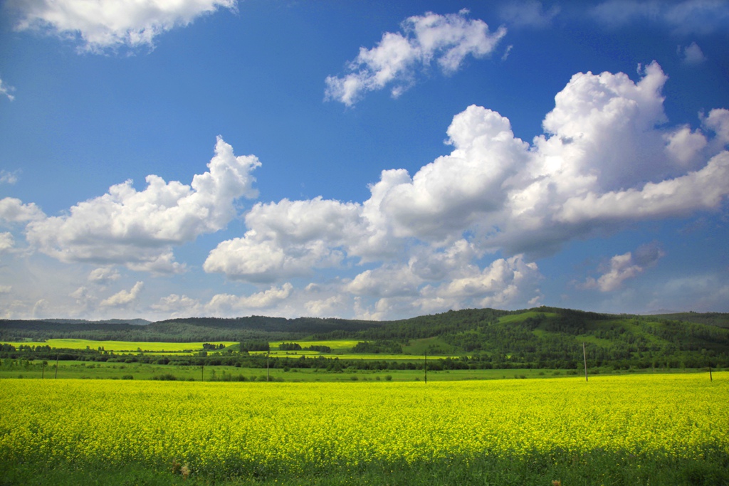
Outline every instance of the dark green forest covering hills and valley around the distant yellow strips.
{"label": "dark green forest covering hills and valley around the distant yellow strips", "polygon": [[[353,321],[338,318],[180,318],[150,324],[87,321],[0,321],[0,342],[74,338],[147,342],[237,341],[230,349],[212,349],[204,356],[126,356],[182,364],[263,366],[249,351],[268,350],[269,341],[354,340],[349,352],[448,356],[433,367],[509,369],[576,369],[582,367],[585,345],[588,367],[701,368],[729,367],[729,314],[679,313],[614,315],[555,307],[529,310],[467,309],[399,321]],[[292,343],[287,343],[291,350]],[[12,348],[12,349],[10,349]],[[61,350],[3,346],[0,355],[56,358]],[[28,349],[25,349],[28,348]],[[46,349],[47,348],[47,349]],[[287,348],[287,349],[289,349]],[[327,350],[330,358],[336,358]],[[329,350],[331,351],[331,350]],[[67,350],[64,356],[79,356]],[[116,360],[113,353],[88,350],[83,359]],[[208,356],[209,355],[209,356]],[[285,361],[285,363],[284,363]],[[329,358],[276,360],[278,367],[335,366]],[[346,360],[341,360],[346,361]],[[354,360],[350,360],[354,361]],[[339,367],[394,367],[377,360],[356,360]],[[151,362],[151,361],[150,361]],[[429,365],[430,366],[430,365]]]}

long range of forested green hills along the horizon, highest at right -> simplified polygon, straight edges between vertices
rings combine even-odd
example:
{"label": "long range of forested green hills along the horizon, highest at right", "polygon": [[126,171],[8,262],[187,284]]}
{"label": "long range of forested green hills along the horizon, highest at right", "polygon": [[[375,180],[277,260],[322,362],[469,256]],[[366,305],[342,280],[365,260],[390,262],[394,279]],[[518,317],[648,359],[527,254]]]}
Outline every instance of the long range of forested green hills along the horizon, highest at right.
{"label": "long range of forested green hills along the horizon, highest at right", "polygon": [[[467,309],[400,321],[324,318],[184,318],[147,325],[125,322],[0,321],[0,342],[76,338],[220,342],[356,340],[361,352],[488,356],[491,361],[588,358],[729,362],[729,314],[610,315],[555,307]],[[356,352],[357,350],[355,350]],[[697,361],[697,362],[698,362]],[[647,362],[647,361],[646,361]]]}

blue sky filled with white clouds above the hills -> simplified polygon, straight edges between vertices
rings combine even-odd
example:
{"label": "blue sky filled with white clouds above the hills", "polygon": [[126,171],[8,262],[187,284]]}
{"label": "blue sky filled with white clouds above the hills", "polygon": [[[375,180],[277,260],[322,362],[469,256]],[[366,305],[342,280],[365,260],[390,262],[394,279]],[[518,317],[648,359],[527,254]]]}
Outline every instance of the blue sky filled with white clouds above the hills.
{"label": "blue sky filled with white clouds above the hills", "polygon": [[729,312],[729,2],[7,0],[0,317]]}

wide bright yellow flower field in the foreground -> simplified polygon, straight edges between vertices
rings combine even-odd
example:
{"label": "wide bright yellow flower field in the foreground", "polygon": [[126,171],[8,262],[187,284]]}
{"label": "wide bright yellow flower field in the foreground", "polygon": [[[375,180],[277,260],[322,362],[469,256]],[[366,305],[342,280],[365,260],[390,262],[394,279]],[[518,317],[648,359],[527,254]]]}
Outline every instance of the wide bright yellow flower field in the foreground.
{"label": "wide bright yellow flower field in the foreground", "polygon": [[0,458],[297,471],[729,452],[729,373],[428,383],[2,380]]}

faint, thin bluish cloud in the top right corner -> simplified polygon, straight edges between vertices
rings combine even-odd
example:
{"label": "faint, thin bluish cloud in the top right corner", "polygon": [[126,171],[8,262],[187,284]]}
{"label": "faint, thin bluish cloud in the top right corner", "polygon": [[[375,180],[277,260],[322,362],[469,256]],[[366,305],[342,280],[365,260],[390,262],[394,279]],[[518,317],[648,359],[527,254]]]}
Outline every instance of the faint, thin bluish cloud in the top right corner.
{"label": "faint, thin bluish cloud in the top right corner", "polygon": [[607,26],[642,21],[667,26],[677,34],[709,34],[726,26],[729,4],[724,0],[608,0],[591,13]]}

